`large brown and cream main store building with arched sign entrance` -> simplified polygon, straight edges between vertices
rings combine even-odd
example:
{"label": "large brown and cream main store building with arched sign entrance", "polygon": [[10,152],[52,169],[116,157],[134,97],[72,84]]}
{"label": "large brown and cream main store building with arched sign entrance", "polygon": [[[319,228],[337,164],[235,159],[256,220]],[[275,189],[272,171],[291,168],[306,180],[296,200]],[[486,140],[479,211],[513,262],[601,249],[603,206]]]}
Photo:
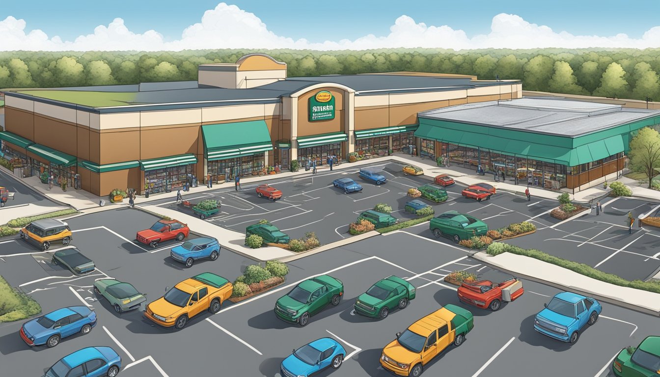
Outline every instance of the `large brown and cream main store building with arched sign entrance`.
{"label": "large brown and cream main store building with arched sign entrance", "polygon": [[218,183],[292,160],[424,151],[419,112],[522,90],[515,80],[433,73],[287,78],[285,63],[259,53],[198,72],[198,81],[5,91],[3,155],[24,176],[53,174],[96,195],[159,193],[190,176]]}

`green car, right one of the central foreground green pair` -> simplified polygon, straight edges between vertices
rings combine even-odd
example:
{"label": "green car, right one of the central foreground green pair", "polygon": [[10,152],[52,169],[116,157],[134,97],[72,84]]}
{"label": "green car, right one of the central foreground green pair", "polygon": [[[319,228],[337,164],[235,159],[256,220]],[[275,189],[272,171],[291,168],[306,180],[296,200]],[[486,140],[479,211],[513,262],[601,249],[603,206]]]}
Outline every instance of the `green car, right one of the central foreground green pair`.
{"label": "green car, right one of the central foreground green pair", "polygon": [[411,283],[397,276],[389,276],[360,294],[353,308],[357,314],[372,318],[385,318],[395,308],[403,309],[415,297]]}

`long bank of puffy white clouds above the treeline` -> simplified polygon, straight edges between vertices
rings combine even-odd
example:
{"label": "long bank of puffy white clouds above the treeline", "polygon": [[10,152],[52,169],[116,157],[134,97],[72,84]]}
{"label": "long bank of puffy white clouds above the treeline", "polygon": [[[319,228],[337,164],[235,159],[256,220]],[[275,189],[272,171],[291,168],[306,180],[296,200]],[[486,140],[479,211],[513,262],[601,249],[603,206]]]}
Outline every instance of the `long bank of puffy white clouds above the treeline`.
{"label": "long bank of puffy white clouds above the treeline", "polygon": [[527,22],[517,15],[500,13],[493,17],[490,33],[472,37],[451,26],[426,25],[402,15],[389,28],[389,34],[369,34],[355,40],[310,42],[279,36],[253,13],[236,5],[218,4],[206,11],[201,21],[183,30],[178,40],[166,42],[162,34],[149,30],[143,34],[131,32],[121,18],[108,26],[94,28],[93,34],[81,35],[73,41],[59,36],[49,38],[42,30],[25,30],[26,22],[14,17],[0,21],[0,51],[90,51],[143,50],[180,51],[221,48],[250,49],[313,49],[364,50],[372,48],[447,48],[470,50],[477,48],[659,48],[660,26],[644,33],[642,38],[626,34],[612,36],[576,36],[566,31],[556,32],[549,26]]}

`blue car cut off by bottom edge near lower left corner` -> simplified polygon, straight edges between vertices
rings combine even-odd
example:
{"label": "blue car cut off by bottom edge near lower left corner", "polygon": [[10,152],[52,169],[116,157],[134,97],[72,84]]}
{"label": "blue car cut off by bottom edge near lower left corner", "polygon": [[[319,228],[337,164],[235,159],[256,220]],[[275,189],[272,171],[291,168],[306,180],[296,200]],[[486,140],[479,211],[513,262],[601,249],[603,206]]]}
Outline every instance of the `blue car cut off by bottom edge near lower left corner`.
{"label": "blue car cut off by bottom edge near lower left corner", "polygon": [[110,347],[87,347],[63,357],[46,371],[45,377],[115,377],[121,357]]}

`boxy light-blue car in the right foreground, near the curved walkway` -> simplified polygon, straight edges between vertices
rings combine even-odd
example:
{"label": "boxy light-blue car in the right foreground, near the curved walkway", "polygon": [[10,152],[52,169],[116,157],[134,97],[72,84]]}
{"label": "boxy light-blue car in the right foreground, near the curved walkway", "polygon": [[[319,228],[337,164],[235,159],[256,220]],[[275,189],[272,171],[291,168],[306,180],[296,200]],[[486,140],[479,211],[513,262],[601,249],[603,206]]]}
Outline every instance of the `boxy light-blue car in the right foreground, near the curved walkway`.
{"label": "boxy light-blue car in the right foreground, near the curved walkway", "polygon": [[595,299],[571,292],[557,294],[544,306],[534,318],[534,329],[568,343],[576,343],[584,326],[595,324],[603,310]]}

